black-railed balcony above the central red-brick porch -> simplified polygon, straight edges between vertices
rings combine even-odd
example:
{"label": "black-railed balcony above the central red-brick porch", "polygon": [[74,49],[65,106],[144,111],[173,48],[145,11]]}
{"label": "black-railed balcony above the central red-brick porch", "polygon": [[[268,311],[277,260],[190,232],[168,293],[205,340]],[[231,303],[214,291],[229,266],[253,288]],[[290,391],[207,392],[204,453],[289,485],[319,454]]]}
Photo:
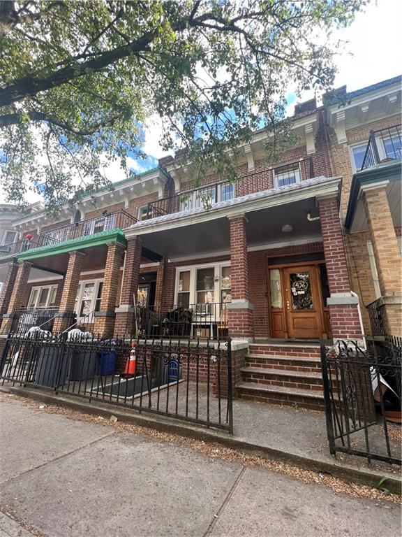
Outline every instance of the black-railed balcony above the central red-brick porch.
{"label": "black-railed balcony above the central red-brick porch", "polygon": [[[243,177],[239,182],[223,181],[211,185],[178,192],[173,196],[158,199],[149,203],[140,215],[140,220],[149,220],[158,216],[181,213],[195,208],[212,208],[214,204],[229,201],[246,194],[250,189],[244,187],[244,182],[258,185],[258,192],[274,187],[285,187],[314,177],[313,160],[311,157],[296,162],[276,166],[267,171],[257,171]],[[254,190],[255,192],[255,190]]]}

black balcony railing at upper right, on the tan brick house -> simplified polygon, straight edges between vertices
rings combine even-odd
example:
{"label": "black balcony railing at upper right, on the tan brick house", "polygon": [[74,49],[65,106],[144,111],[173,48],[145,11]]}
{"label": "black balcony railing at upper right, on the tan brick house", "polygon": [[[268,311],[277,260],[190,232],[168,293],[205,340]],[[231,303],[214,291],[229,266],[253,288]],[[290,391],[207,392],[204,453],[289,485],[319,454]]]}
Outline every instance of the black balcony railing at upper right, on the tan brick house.
{"label": "black balcony railing at upper right, on the tan brick house", "polygon": [[402,158],[401,125],[371,131],[361,170]]}

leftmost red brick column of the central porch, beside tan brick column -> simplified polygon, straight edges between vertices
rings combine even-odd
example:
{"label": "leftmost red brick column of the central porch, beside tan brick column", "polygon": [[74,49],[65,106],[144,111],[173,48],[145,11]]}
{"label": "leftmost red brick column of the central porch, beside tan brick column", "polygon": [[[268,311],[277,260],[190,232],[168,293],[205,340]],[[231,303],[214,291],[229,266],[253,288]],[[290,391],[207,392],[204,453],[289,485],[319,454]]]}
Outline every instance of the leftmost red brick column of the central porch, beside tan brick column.
{"label": "leftmost red brick column of the central porch, beside tan brick column", "polygon": [[124,263],[123,280],[121,281],[120,306],[115,309],[116,321],[114,334],[116,336],[131,336],[134,326],[134,299],[140,278],[141,241],[138,237],[127,239],[126,261]]}

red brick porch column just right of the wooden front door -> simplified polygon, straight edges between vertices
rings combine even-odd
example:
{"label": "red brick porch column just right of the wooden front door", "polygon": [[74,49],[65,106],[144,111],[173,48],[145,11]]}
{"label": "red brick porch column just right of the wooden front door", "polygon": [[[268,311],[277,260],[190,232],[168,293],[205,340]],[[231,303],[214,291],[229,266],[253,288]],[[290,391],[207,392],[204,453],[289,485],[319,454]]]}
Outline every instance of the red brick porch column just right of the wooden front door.
{"label": "red brick porch column just right of the wooden front door", "polygon": [[359,299],[350,292],[343,232],[338,215],[337,196],[318,198],[322,243],[331,296],[327,299],[332,337],[362,341]]}

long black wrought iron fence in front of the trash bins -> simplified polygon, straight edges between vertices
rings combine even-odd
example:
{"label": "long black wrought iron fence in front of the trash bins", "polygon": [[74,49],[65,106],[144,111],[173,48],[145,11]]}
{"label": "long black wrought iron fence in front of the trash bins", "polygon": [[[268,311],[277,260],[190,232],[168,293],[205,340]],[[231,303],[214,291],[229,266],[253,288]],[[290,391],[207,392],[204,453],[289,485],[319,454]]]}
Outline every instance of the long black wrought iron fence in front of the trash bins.
{"label": "long black wrought iron fence in front of the trash bins", "polygon": [[101,340],[71,332],[9,336],[0,379],[233,430],[229,338],[202,345],[190,339]]}

